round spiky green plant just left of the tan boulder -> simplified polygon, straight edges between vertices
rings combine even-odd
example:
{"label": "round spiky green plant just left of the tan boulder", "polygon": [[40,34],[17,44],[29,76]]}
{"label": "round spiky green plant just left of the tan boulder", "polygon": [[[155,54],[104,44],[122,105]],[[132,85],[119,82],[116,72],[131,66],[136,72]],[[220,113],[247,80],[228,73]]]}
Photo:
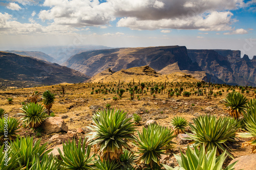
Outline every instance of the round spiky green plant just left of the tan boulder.
{"label": "round spiky green plant just left of the tan boulder", "polygon": [[44,106],[38,103],[29,103],[20,108],[20,110],[24,113],[19,114],[25,115],[25,117],[20,118],[20,120],[23,120],[23,123],[30,128],[37,128],[47,117]]}

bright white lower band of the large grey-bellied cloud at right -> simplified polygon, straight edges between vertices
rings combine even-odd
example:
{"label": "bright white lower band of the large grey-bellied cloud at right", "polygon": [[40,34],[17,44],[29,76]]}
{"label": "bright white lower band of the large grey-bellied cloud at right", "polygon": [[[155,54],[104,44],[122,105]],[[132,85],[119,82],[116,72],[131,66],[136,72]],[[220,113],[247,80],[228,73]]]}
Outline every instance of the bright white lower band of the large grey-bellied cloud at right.
{"label": "bright white lower band of the large grey-bellied cloud at right", "polygon": [[231,12],[212,12],[205,16],[160,20],[138,20],[136,17],[124,17],[117,22],[117,27],[129,27],[132,30],[156,29],[199,29],[200,31],[231,30]]}

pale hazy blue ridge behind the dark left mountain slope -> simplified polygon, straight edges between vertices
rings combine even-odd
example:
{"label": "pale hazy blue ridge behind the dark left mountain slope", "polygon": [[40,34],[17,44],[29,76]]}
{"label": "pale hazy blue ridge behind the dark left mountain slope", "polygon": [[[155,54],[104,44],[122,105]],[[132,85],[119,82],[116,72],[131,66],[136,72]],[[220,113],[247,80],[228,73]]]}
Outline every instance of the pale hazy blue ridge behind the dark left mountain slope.
{"label": "pale hazy blue ridge behind the dark left mountain slope", "polygon": [[55,60],[54,58],[52,58],[51,56],[42,53],[42,52],[26,52],[26,51],[5,51],[8,53],[14,53],[17,55],[21,55],[21,56],[30,56],[30,57],[34,57],[40,60],[45,60],[45,61],[49,61],[51,63],[56,63],[57,60]]}

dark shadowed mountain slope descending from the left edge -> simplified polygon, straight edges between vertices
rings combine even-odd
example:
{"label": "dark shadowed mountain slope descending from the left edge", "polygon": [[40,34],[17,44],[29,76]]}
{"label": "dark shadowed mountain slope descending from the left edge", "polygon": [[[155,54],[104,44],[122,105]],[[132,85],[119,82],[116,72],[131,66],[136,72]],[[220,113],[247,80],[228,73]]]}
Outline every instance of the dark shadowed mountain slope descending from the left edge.
{"label": "dark shadowed mountain slope descending from the left edge", "polygon": [[66,66],[0,51],[0,79],[51,85],[79,83],[89,78]]}

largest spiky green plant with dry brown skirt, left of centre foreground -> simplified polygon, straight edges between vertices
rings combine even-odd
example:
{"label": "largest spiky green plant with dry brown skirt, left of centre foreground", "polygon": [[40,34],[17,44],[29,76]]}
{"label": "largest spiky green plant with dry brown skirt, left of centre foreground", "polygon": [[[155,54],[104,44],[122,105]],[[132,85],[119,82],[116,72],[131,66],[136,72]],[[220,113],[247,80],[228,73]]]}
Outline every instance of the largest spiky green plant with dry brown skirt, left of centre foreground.
{"label": "largest spiky green plant with dry brown skirt, left of centre foreground", "polygon": [[120,110],[104,110],[93,115],[96,126],[88,127],[92,132],[88,134],[88,142],[95,145],[95,150],[100,152],[105,160],[119,159],[123,148],[129,149],[127,141],[135,140],[135,127],[131,118],[126,118],[127,113]]}

